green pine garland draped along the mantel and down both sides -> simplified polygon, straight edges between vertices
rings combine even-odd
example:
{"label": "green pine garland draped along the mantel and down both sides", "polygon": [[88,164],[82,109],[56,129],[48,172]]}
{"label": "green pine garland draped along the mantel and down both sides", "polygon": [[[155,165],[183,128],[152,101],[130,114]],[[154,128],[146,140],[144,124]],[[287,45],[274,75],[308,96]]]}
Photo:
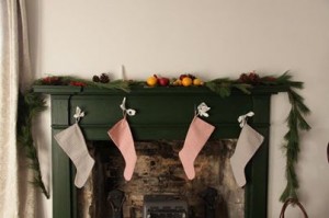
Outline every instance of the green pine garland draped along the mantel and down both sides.
{"label": "green pine garland draped along the mantel and down both sides", "polygon": [[[89,81],[75,77],[47,77],[36,80],[34,84],[94,87],[100,89],[123,90],[125,92],[129,92],[131,88],[134,85],[145,85],[145,82],[140,81],[115,80],[109,82],[107,78],[103,79],[106,79],[107,82],[98,82],[94,80],[94,78],[92,81]],[[291,111],[286,118],[288,131],[284,135],[285,144],[283,146],[286,157],[285,176],[287,183],[284,192],[280,197],[282,202],[285,202],[287,198],[298,198],[297,190],[299,185],[295,172],[295,164],[298,161],[298,153],[300,150],[299,130],[310,129],[310,126],[304,118],[309,114],[310,111],[305,105],[304,97],[297,93],[297,90],[302,90],[304,88],[303,84],[303,82],[294,81],[288,72],[284,72],[280,77],[259,77],[257,73],[250,72],[242,73],[240,78],[236,80],[231,80],[229,78],[220,78],[204,83],[205,87],[207,87],[209,90],[217,93],[222,97],[229,96],[234,89],[238,89],[246,94],[250,94],[252,92],[252,89],[256,87],[263,87],[269,89],[271,87],[285,88],[284,90],[287,92],[291,103]],[[19,145],[22,145],[25,148],[26,157],[31,160],[30,167],[35,172],[34,181],[32,181],[32,183],[41,187],[45,196],[49,198],[49,193],[42,181],[37,150],[32,137],[32,121],[43,110],[45,110],[45,100],[43,94],[35,93],[32,89],[29,92],[22,94],[19,105],[18,140]]]}

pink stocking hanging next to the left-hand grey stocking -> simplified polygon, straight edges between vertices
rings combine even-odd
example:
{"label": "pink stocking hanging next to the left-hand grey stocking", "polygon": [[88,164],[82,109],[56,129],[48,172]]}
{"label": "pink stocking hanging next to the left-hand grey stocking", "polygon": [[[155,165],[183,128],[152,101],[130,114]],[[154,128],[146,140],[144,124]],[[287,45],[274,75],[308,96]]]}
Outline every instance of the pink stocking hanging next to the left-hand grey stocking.
{"label": "pink stocking hanging next to the left-hand grey stocking", "polygon": [[129,181],[133,176],[135,164],[137,161],[137,156],[134,146],[134,139],[132,131],[128,125],[128,122],[124,117],[117,122],[109,131],[110,138],[113,140],[115,146],[121,151],[126,167],[124,170],[124,177],[126,181]]}

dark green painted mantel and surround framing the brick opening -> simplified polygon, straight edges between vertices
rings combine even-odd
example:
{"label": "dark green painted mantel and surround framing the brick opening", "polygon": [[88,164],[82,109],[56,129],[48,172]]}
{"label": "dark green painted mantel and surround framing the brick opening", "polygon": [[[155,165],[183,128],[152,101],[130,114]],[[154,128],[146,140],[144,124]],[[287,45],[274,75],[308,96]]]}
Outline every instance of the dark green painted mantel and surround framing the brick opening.
{"label": "dark green painted mantel and surround framing the brick opening", "polygon": [[[238,116],[250,111],[249,124],[265,140],[249,162],[246,174],[246,218],[266,217],[268,161],[271,95],[286,91],[285,87],[259,87],[251,94],[232,91],[220,97],[207,88],[132,88],[131,92],[98,88],[35,85],[34,92],[50,94],[53,135],[75,123],[76,107],[86,116],[80,126],[87,140],[110,140],[107,130],[122,117],[120,104],[137,111],[128,117],[135,140],[184,139],[195,107],[205,102],[209,117],[204,118],[216,128],[213,139],[238,138]],[[76,218],[76,187],[73,168],[59,146],[53,140],[53,217]]]}

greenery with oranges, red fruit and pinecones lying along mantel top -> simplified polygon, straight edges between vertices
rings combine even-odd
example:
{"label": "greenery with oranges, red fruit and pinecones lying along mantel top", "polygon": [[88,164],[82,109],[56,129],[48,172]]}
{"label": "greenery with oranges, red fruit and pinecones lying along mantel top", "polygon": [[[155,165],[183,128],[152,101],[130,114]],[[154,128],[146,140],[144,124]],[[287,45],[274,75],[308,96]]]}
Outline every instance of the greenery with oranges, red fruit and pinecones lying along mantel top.
{"label": "greenery with oranges, red fruit and pinecones lying along mantel top", "polygon": [[[182,87],[182,88],[197,88],[205,87],[211,91],[219,94],[222,97],[230,95],[231,90],[240,90],[246,94],[250,94],[251,90],[256,87],[274,88],[286,91],[292,84],[291,76],[288,72],[279,77],[264,76],[260,77],[254,71],[248,73],[241,73],[238,79],[217,78],[214,80],[203,81],[200,77],[192,73],[180,73],[179,77],[168,78],[160,74],[152,74],[144,81],[138,80],[111,80],[110,73],[103,72],[95,74],[91,80],[80,79],[69,76],[52,76],[38,79],[34,82],[34,85],[70,85],[70,87],[88,87],[88,88],[101,88],[109,90],[123,90],[129,92],[134,87],[140,88],[157,88],[157,87]],[[297,83],[298,84],[298,83]]]}

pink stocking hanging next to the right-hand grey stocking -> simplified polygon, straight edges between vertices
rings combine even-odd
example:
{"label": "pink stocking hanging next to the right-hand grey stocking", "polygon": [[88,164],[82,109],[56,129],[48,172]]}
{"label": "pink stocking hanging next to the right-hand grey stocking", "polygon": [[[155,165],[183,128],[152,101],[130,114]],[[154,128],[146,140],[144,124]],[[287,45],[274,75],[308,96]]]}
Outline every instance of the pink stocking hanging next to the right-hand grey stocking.
{"label": "pink stocking hanging next to the right-hand grey stocking", "polygon": [[197,116],[194,116],[190,125],[183,149],[179,152],[180,160],[189,180],[194,179],[194,160],[214,129],[215,127],[213,125],[202,121]]}

